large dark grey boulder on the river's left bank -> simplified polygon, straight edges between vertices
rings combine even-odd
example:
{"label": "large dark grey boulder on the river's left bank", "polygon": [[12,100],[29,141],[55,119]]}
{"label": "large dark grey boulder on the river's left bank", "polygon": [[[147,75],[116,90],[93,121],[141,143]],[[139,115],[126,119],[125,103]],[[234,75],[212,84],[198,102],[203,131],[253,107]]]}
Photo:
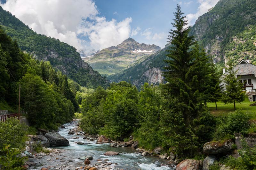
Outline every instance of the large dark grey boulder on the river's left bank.
{"label": "large dark grey boulder on the river's left bank", "polygon": [[57,132],[46,133],[45,137],[49,140],[50,146],[68,146],[68,139]]}

